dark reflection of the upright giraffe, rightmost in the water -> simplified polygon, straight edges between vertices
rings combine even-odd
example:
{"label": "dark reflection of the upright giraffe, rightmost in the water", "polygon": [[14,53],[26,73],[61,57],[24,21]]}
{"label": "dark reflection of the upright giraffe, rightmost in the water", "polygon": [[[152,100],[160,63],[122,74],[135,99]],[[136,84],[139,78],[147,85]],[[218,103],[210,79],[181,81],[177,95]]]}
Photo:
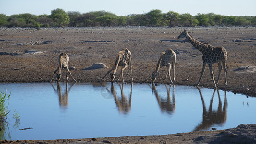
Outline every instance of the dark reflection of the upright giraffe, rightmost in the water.
{"label": "dark reflection of the upright giraffe, rightmost in the water", "polygon": [[[197,125],[195,127],[194,131],[207,130],[210,127],[212,127],[212,125],[214,125],[214,124],[223,124],[223,123],[225,123],[225,121],[227,120],[227,105],[228,105],[227,97],[226,97],[226,91],[224,91],[224,104],[223,104],[223,108],[222,108],[222,101],[221,101],[220,96],[219,96],[219,90],[214,89],[212,98],[210,100],[210,106],[209,106],[209,109],[207,111],[207,108],[205,106],[205,101],[204,101],[204,98],[202,96],[201,90],[200,90],[199,87],[197,87],[197,89],[200,93],[202,106],[203,106],[203,120],[199,125]],[[213,99],[214,99],[214,95],[215,95],[216,91],[218,93],[219,105],[218,105],[218,109],[214,110],[212,107],[213,107]]]}

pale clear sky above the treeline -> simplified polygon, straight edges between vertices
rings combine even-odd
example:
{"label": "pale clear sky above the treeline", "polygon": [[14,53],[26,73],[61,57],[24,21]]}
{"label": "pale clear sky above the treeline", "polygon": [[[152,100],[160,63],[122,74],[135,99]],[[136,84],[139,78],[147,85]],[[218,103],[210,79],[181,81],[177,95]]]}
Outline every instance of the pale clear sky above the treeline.
{"label": "pale clear sky above the treeline", "polygon": [[57,8],[81,13],[104,10],[118,16],[155,9],[193,16],[209,12],[226,16],[256,16],[256,0],[0,0],[0,13],[7,16],[21,13],[50,15]]}

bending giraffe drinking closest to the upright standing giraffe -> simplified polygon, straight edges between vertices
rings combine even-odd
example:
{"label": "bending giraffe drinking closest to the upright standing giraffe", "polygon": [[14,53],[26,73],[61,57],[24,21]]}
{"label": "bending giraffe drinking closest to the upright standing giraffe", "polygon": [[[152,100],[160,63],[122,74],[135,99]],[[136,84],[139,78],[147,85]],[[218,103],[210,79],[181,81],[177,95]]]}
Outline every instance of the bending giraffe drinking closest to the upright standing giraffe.
{"label": "bending giraffe drinking closest to the upright standing giraffe", "polygon": [[160,55],[160,58],[158,60],[157,68],[151,75],[152,76],[152,83],[154,84],[154,82],[156,81],[156,78],[158,76],[160,68],[163,67],[163,66],[166,66],[167,67],[167,72],[166,72],[166,75],[165,75],[165,79],[167,78],[167,74],[169,74],[170,82],[172,84],[171,68],[173,70],[173,81],[175,81],[175,63],[176,63],[176,53],[171,48],[162,52],[161,55]]}

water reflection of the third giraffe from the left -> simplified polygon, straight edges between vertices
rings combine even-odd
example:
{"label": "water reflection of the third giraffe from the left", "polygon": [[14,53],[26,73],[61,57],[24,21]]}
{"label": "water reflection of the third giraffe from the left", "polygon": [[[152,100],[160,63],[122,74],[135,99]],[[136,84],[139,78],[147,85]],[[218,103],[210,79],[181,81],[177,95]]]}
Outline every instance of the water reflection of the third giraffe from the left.
{"label": "water reflection of the third giraffe from the left", "polygon": [[[150,84],[148,84],[150,86]],[[175,105],[175,85],[173,85],[173,94],[172,94],[172,99],[171,99],[171,86],[167,86],[167,84],[165,84],[166,87],[166,91],[167,91],[167,99],[163,98],[161,96],[158,95],[158,91],[156,89],[156,86],[154,84],[152,84],[152,87],[150,86],[150,88],[152,89],[152,93],[154,92],[157,101],[158,101],[158,105],[161,109],[161,112],[163,113],[167,113],[168,115],[171,115],[172,113],[175,112],[176,110],[176,105]]]}

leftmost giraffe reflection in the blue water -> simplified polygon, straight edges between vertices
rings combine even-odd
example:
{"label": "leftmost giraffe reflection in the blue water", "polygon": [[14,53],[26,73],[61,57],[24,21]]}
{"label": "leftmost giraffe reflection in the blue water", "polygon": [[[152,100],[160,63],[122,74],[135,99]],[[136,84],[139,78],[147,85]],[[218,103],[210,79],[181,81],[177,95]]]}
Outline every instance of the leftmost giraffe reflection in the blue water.
{"label": "leftmost giraffe reflection in the blue water", "polygon": [[53,89],[54,89],[54,92],[58,94],[59,96],[59,105],[61,108],[68,108],[69,106],[69,91],[71,89],[71,87],[75,84],[73,83],[69,88],[68,88],[68,82],[66,82],[66,87],[64,89],[64,93],[61,93],[61,85],[60,83],[56,82],[57,84],[57,89],[54,87],[54,85],[51,83]]}

